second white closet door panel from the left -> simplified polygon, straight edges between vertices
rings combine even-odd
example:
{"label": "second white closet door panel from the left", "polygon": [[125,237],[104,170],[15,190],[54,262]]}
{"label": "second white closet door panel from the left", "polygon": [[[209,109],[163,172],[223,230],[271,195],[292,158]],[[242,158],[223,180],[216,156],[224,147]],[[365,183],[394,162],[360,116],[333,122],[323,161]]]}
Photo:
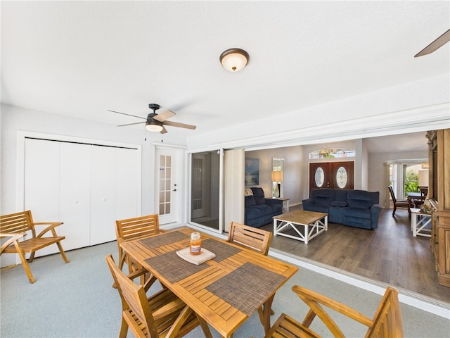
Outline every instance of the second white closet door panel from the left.
{"label": "second white closet door panel from the left", "polygon": [[61,143],[60,215],[65,250],[89,246],[91,146]]}

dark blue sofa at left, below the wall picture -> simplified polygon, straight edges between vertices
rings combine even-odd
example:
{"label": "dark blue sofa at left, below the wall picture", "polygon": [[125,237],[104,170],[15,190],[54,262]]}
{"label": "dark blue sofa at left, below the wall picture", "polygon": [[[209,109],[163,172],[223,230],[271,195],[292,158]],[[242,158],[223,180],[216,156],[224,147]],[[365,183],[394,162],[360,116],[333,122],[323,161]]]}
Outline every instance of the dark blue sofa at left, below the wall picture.
{"label": "dark blue sofa at left, below the wall picture", "polygon": [[245,225],[262,227],[272,223],[272,217],[283,213],[283,201],[266,199],[264,190],[259,187],[246,188],[245,192]]}

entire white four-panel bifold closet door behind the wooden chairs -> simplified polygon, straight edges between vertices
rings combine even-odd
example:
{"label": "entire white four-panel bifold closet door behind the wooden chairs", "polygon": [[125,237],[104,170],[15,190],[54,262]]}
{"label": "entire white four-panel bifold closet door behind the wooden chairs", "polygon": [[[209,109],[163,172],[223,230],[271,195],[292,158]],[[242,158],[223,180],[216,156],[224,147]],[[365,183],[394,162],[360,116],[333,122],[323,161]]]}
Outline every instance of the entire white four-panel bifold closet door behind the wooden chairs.
{"label": "entire white four-panel bifold closet door behind the wooden chairs", "polygon": [[65,250],[115,240],[115,220],[139,216],[140,175],[137,149],[25,139],[25,210],[64,222]]}

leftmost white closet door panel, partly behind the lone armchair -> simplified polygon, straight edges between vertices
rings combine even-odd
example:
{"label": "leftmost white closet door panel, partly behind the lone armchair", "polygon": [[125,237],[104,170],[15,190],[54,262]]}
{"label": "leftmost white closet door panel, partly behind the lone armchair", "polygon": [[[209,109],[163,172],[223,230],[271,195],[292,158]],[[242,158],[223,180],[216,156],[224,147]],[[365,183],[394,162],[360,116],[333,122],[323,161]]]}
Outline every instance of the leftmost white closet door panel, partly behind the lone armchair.
{"label": "leftmost white closet door panel, partly behind the lone armchair", "polygon": [[[24,210],[31,210],[34,222],[63,222],[59,214],[59,155],[59,142],[25,139]],[[36,234],[47,226],[37,225]],[[60,227],[56,228],[59,232]],[[55,252],[58,246],[47,246],[37,251],[36,257]]]}

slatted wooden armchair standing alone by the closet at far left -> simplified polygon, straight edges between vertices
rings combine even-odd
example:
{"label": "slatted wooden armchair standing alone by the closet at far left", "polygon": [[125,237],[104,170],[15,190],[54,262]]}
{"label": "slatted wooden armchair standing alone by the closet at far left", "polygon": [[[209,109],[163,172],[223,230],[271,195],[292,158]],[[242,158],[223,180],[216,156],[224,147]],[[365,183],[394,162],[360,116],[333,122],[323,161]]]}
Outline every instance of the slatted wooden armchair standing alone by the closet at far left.
{"label": "slatted wooden armchair standing alone by the closet at far left", "polygon": [[[23,269],[27,274],[30,283],[34,283],[34,277],[28,263],[34,259],[36,251],[56,244],[63,257],[65,263],[69,263],[61,241],[65,236],[58,236],[55,228],[62,225],[62,222],[40,222],[34,223],[32,213],[30,210],[21,211],[20,213],[11,213],[0,216],[0,237],[8,238],[0,249],[2,253],[18,253]],[[47,227],[36,235],[35,225],[47,225]],[[45,235],[45,236],[44,236]],[[30,237],[22,240],[22,237]],[[8,245],[6,245],[8,244]],[[30,253],[28,260],[25,258],[25,253]]]}

